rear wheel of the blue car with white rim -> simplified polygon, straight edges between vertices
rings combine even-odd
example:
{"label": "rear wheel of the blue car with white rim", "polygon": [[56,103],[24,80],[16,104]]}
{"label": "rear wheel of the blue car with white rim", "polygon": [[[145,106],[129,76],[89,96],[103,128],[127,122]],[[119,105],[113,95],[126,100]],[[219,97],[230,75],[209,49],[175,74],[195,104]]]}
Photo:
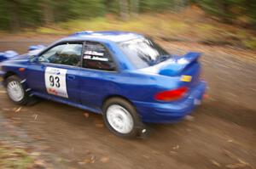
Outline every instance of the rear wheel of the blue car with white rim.
{"label": "rear wheel of the blue car with white rim", "polygon": [[146,131],[137,110],[125,99],[108,99],[102,111],[105,125],[119,137],[136,138],[142,131]]}

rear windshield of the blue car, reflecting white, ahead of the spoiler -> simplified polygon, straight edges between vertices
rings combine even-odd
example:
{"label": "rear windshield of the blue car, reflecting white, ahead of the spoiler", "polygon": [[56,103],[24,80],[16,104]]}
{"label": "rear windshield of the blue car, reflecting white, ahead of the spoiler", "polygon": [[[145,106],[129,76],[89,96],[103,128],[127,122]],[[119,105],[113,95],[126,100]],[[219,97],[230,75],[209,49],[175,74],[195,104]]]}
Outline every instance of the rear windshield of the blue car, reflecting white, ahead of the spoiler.
{"label": "rear windshield of the blue car, reflecting white, ahead of the spoiler", "polygon": [[163,48],[147,38],[120,42],[119,47],[137,69],[156,65],[171,57]]}

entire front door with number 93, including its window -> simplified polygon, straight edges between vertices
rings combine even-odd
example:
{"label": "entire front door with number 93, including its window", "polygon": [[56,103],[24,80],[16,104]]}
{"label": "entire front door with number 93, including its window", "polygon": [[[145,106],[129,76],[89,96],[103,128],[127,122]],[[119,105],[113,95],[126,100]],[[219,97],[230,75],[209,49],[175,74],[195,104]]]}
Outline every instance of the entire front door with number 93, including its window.
{"label": "entire front door with number 93, including its window", "polygon": [[79,70],[83,42],[60,42],[40,54],[27,70],[32,92],[79,103]]}

